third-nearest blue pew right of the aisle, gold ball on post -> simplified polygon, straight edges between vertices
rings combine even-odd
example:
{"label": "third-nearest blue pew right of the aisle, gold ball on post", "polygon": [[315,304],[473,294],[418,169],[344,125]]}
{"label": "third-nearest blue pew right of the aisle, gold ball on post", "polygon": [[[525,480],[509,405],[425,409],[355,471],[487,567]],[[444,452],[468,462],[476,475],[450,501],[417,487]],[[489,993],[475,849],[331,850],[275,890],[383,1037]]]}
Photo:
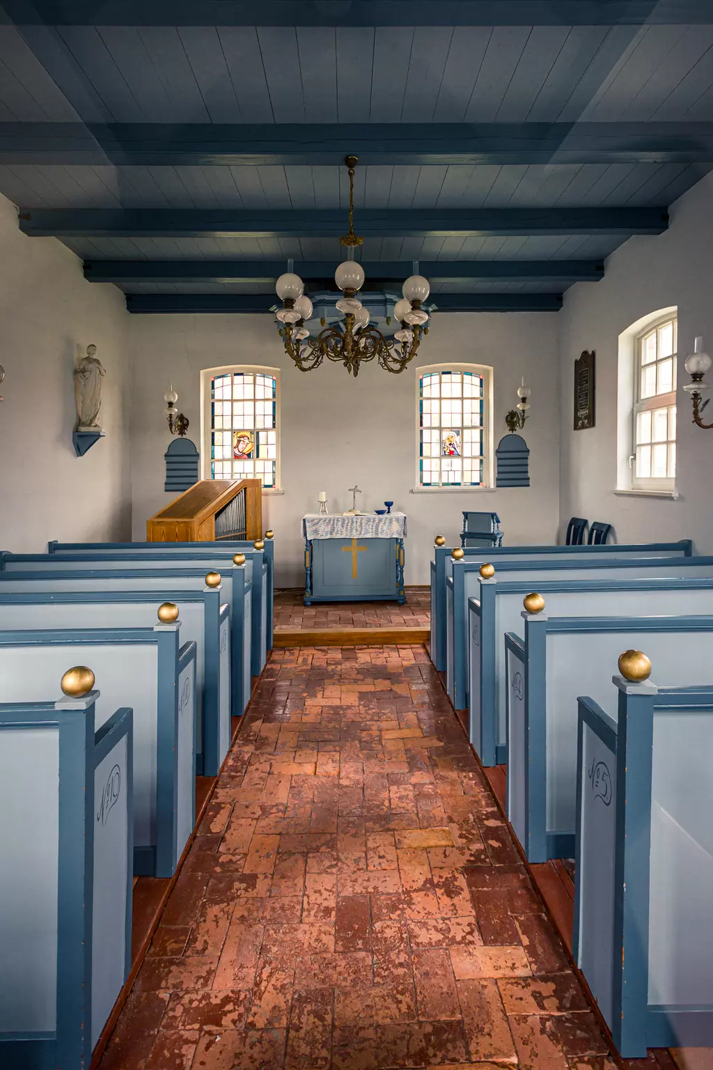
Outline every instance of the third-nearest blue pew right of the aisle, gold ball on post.
{"label": "third-nearest blue pew right of the aisle, gold ball on post", "polygon": [[[691,559],[700,562],[702,559]],[[713,567],[694,569],[696,579],[538,580],[537,588],[551,616],[601,616],[616,607],[617,614],[646,615],[654,609],[665,613],[706,613],[713,606]],[[503,576],[513,574],[503,572]],[[707,578],[706,578],[707,577]],[[469,738],[483,765],[508,761],[506,747],[506,672],[502,637],[521,624],[523,598],[532,590],[531,580],[481,579],[480,598],[468,599],[468,724]]]}

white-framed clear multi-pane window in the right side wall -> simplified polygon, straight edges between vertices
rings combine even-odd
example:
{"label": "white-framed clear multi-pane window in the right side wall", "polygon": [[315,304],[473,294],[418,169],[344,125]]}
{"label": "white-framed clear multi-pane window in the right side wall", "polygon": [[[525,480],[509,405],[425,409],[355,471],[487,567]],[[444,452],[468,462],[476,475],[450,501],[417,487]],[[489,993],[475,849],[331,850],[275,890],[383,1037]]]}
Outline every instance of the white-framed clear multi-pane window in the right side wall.
{"label": "white-framed clear multi-pane window in the right side wall", "polygon": [[676,316],[637,339],[632,450],[636,490],[672,490],[676,483],[677,351]]}

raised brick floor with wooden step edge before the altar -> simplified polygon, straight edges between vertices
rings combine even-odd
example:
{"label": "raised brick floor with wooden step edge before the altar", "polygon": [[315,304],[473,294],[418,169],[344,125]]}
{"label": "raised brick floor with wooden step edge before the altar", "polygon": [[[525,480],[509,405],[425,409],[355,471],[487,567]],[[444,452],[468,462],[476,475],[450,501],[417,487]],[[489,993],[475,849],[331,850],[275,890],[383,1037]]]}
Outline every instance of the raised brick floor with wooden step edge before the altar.
{"label": "raised brick floor with wooden step edge before the altar", "polygon": [[275,629],[429,628],[431,593],[407,587],[406,605],[398,602],[322,602],[305,606],[301,591],[275,592]]}

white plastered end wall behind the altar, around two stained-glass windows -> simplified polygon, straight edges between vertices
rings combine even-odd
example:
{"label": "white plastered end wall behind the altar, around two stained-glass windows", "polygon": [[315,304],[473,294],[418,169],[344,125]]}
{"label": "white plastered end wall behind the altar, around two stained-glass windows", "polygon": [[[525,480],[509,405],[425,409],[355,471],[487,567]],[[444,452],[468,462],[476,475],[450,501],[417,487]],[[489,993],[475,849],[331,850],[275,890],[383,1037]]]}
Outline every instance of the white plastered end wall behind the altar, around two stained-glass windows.
{"label": "white plastered end wall behind the altar, around two stained-glass windows", "polygon": [[[164,416],[169,382],[190,421],[188,438],[201,448],[200,373],[229,364],[281,369],[283,494],[265,494],[264,526],[276,534],[276,578],[301,586],[300,518],[327,492],[329,509],[351,507],[347,488],[362,488],[358,504],[379,508],[392,500],[408,515],[406,583],[429,582],[437,534],[458,542],[464,509],[496,511],[507,541],[551,542],[559,522],[557,314],[441,314],[433,317],[421,350],[402,374],[365,367],[355,380],[341,365],[298,371],[282,349],[272,316],[131,316],[134,419],[134,538],[165,505],[164,454],[170,442]],[[494,445],[507,434],[505,414],[526,374],[531,418],[529,489],[410,493],[416,484],[416,374],[434,363],[472,362],[493,368]]]}

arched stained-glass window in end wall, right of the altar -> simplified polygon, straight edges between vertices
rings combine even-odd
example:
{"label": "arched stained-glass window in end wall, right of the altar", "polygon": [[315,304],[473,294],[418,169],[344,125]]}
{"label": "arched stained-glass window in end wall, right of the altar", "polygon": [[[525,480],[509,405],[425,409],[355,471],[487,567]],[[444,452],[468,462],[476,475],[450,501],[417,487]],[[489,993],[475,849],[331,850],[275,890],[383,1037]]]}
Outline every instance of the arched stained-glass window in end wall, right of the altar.
{"label": "arched stained-glass window in end wall, right of the altar", "polygon": [[419,369],[420,487],[486,485],[489,370],[477,365]]}

